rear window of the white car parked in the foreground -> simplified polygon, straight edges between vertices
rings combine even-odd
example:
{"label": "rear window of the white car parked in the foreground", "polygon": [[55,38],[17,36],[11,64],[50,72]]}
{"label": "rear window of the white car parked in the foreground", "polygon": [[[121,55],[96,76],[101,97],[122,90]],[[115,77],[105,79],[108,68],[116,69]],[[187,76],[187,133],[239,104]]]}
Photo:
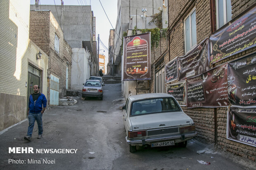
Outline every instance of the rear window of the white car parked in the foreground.
{"label": "rear window of the white car parked in the foreground", "polygon": [[131,116],[181,111],[173,98],[154,98],[132,103]]}

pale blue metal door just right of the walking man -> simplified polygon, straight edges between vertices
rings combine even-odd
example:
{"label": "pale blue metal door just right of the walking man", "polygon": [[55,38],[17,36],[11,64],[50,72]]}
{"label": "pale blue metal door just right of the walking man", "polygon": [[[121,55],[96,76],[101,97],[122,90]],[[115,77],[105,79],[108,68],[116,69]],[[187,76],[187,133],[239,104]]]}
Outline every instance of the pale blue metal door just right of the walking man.
{"label": "pale blue metal door just right of the walking man", "polygon": [[59,105],[59,78],[51,74],[50,105]]}

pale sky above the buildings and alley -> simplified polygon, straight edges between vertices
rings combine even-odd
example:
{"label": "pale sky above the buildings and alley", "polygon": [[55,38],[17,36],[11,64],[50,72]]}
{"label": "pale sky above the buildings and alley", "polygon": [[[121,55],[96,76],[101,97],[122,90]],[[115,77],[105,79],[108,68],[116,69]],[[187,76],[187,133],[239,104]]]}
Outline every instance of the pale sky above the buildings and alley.
{"label": "pale sky above the buildings and alley", "polygon": [[[64,5],[91,5],[93,15],[96,17],[96,39],[98,34],[100,35],[100,40],[104,43],[106,47],[109,46],[109,30],[115,28],[116,17],[117,17],[117,1],[118,0],[63,0]],[[55,2],[55,3],[54,3]],[[109,23],[106,14],[102,6],[109,17],[112,24]],[[30,0],[30,4],[34,5],[35,0]],[[40,0],[40,5],[61,5],[61,0]],[[103,50],[101,50],[103,49]],[[105,52],[104,52],[105,51]],[[100,44],[100,54],[106,56],[106,61],[108,62],[108,50],[105,49],[102,44]],[[106,62],[105,61],[105,62]]]}

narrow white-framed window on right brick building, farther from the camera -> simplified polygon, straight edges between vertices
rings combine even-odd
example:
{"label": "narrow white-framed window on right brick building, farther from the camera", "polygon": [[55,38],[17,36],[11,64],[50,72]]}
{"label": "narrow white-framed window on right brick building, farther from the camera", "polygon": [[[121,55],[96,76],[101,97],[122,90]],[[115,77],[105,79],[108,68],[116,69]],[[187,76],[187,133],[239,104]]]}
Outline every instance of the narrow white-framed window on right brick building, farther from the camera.
{"label": "narrow white-framed window on right brick building, farther from the camera", "polygon": [[191,12],[184,21],[185,25],[185,52],[187,53],[197,44],[196,10]]}

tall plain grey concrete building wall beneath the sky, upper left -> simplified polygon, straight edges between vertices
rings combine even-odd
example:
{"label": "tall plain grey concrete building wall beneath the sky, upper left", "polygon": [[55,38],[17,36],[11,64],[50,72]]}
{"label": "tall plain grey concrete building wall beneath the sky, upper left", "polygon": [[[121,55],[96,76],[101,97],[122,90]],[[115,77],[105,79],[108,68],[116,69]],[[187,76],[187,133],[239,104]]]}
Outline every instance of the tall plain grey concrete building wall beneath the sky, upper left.
{"label": "tall plain grey concrete building wall beneath the sky, upper left", "polygon": [[38,7],[30,5],[30,9],[50,10],[71,48],[82,48],[82,41],[92,42],[93,24],[90,5],[56,5],[56,7],[55,5],[38,5]]}

